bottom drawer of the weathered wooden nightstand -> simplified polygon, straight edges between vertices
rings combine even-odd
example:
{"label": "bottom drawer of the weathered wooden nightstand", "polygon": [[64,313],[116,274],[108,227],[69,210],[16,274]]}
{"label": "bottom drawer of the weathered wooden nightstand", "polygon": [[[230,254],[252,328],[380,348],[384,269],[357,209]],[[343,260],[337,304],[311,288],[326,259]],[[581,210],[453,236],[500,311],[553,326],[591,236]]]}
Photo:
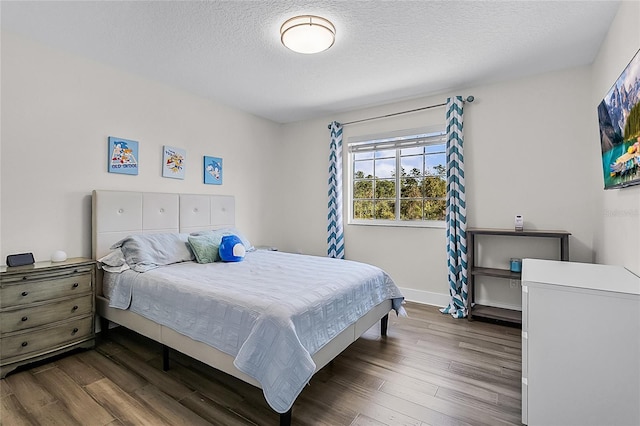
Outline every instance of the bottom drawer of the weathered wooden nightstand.
{"label": "bottom drawer of the weathered wooden nightstand", "polygon": [[37,331],[3,336],[0,344],[2,363],[14,362],[16,358],[32,357],[38,352],[52,352],[60,347],[83,339],[93,338],[93,315],[75,321],[57,324],[55,327]]}

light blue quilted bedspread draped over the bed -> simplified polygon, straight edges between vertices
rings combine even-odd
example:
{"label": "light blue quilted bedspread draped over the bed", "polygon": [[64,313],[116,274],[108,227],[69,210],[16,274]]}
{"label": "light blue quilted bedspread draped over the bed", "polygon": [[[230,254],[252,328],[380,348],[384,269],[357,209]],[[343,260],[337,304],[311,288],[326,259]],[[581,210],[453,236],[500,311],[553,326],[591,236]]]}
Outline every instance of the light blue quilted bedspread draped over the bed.
{"label": "light blue quilted bedspread draped over the bed", "polygon": [[114,308],[233,356],[280,413],[314,373],[316,351],[384,300],[403,311],[402,294],[380,268],[265,250],[242,262],[105,273],[103,292]]}

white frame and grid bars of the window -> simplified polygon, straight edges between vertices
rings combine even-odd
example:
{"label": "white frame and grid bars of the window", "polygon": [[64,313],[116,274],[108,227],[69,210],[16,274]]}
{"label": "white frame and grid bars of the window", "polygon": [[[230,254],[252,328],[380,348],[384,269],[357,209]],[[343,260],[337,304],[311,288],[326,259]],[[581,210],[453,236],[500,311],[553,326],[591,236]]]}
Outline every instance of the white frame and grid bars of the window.
{"label": "white frame and grid bars of the window", "polygon": [[[441,145],[444,143],[444,154],[446,156],[446,130],[444,130],[444,126],[437,126],[435,128],[429,129],[420,129],[420,130],[411,130],[411,131],[403,131],[403,132],[395,132],[396,134],[386,134],[386,135],[378,135],[378,136],[365,136],[360,138],[350,138],[349,142],[346,145],[348,164],[347,167],[347,179],[348,182],[348,201],[347,201],[347,224],[348,225],[365,225],[365,226],[388,226],[388,227],[412,227],[412,228],[445,228],[446,221],[445,220],[402,220],[400,219],[400,209],[402,198],[402,191],[400,186],[400,181],[403,178],[400,173],[402,170],[402,158],[407,156],[401,155],[402,149],[407,149],[411,147],[422,147],[428,145]],[[399,135],[398,135],[399,134]],[[426,142],[425,142],[426,140]],[[375,170],[375,152],[377,151],[387,151],[387,150],[395,150],[395,199],[393,202],[396,203],[395,206],[395,216],[396,218],[391,219],[358,219],[354,218],[354,183],[356,182],[354,179],[354,169],[356,162],[356,154],[363,152],[373,152],[372,162],[374,163]],[[422,154],[423,161],[426,158],[425,154]],[[445,157],[446,161],[446,157]],[[446,167],[445,164],[445,174],[444,178],[446,180]],[[424,163],[422,170],[422,178],[425,178],[424,175]],[[375,176],[375,171],[374,171]],[[379,178],[384,180],[386,178]],[[373,182],[375,180],[372,179]],[[375,199],[375,188],[372,187],[372,200]],[[422,200],[428,199],[428,197],[422,197]],[[446,203],[446,196],[445,196]]]}

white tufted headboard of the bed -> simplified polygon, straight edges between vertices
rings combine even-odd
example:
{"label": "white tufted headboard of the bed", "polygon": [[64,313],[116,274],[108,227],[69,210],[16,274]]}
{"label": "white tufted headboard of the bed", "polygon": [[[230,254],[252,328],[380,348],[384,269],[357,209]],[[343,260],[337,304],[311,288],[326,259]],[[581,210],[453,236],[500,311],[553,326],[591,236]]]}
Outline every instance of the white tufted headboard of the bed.
{"label": "white tufted headboard of the bed", "polygon": [[231,195],[170,194],[161,192],[102,191],[92,196],[94,259],[131,234],[195,232],[235,225]]}

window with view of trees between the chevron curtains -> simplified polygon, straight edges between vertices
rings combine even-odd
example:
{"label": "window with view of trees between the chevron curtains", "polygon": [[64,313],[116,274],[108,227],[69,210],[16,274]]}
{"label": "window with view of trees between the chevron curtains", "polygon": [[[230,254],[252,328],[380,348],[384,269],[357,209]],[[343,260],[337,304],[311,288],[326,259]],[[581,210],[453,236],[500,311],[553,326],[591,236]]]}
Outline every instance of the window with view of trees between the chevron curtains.
{"label": "window with view of trees between the chevron curtains", "polygon": [[349,144],[351,223],[433,225],[445,219],[444,132]]}

